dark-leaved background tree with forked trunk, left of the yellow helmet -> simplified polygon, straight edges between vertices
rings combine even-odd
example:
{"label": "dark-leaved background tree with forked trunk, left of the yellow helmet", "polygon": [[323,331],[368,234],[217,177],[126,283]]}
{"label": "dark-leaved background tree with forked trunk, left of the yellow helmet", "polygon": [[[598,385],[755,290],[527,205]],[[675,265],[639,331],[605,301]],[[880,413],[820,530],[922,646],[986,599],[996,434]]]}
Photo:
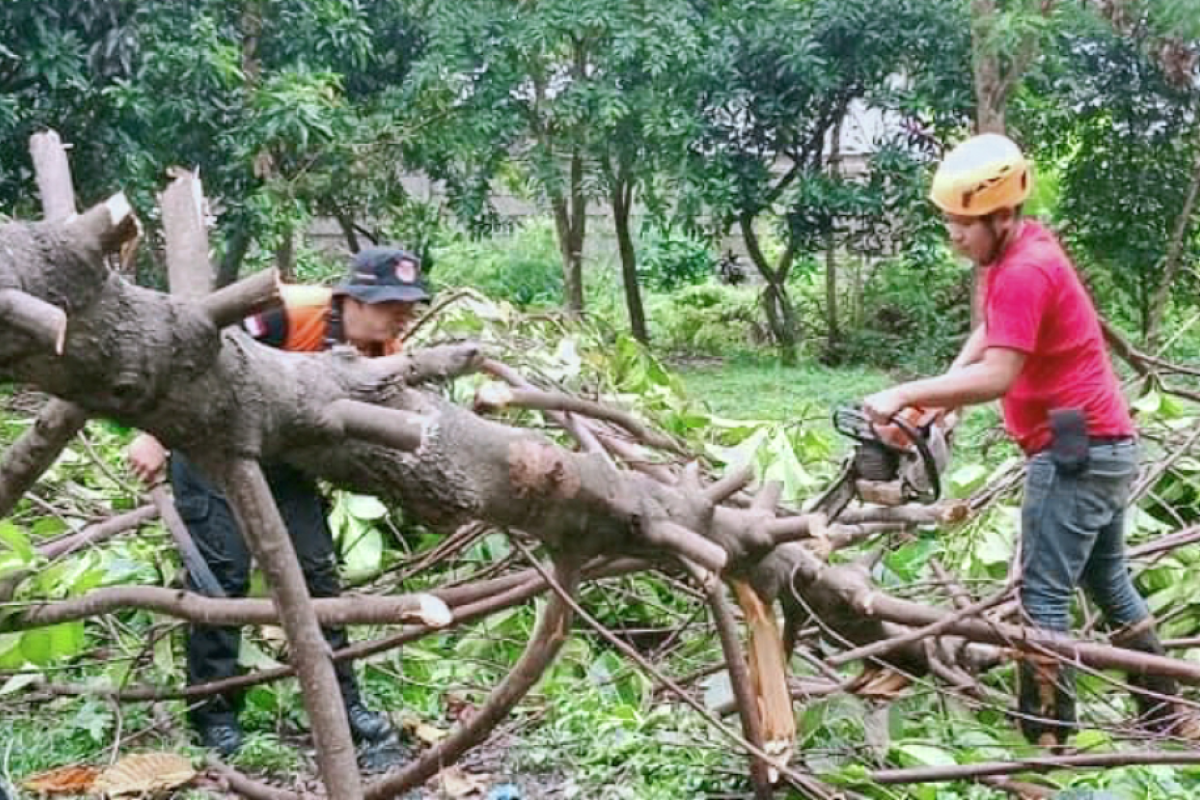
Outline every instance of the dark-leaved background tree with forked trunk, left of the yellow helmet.
{"label": "dark-leaved background tree with forked trunk, left of the yellow helmet", "polygon": [[[702,120],[692,146],[694,185],[736,225],[764,281],[762,303],[785,363],[796,361],[798,320],[787,288],[800,242],[778,228],[804,184],[824,180],[830,133],[857,100],[883,97],[889,79],[919,72],[922,58],[955,41],[958,4],[714,4],[698,77]],[[961,28],[959,28],[961,30]]]}

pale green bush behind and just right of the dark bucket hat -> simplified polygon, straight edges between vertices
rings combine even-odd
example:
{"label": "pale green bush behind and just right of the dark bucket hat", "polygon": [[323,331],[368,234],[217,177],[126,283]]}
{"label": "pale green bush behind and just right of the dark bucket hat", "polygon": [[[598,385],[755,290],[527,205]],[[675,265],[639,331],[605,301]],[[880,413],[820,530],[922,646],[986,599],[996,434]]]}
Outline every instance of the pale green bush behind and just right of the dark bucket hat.
{"label": "pale green bush behind and just right of the dark bucket hat", "polygon": [[553,224],[532,218],[511,233],[434,249],[438,287],[470,287],[522,308],[563,300],[563,261]]}

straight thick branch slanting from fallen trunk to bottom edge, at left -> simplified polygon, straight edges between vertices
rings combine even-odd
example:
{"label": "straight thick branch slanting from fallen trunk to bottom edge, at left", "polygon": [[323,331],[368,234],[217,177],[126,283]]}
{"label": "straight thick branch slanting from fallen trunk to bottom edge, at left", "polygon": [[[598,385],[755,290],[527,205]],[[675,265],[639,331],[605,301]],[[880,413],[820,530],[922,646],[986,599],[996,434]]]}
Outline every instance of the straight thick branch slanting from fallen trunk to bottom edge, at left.
{"label": "straight thick branch slanting from fallen trunk to bottom edge, at left", "polygon": [[206,471],[221,476],[238,527],[266,576],[304,690],[320,778],[331,799],[356,800],[362,796],[362,782],[334,673],[332,651],[320,631],[292,537],[263,470],[254,461],[234,458],[226,464],[211,463]]}

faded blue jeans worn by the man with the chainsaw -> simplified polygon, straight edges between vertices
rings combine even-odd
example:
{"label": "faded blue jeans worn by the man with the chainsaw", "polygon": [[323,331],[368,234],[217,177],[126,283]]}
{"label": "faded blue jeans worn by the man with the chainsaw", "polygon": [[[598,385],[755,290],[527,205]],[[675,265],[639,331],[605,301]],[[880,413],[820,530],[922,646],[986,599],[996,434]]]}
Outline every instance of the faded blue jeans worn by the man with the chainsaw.
{"label": "faded blue jeans worn by the man with the chainsaw", "polygon": [[1030,459],[1021,606],[1038,627],[1069,630],[1070,595],[1080,584],[1114,628],[1148,615],[1124,558],[1124,510],[1136,474],[1133,441],[1093,445],[1078,475],[1062,474],[1049,451]]}

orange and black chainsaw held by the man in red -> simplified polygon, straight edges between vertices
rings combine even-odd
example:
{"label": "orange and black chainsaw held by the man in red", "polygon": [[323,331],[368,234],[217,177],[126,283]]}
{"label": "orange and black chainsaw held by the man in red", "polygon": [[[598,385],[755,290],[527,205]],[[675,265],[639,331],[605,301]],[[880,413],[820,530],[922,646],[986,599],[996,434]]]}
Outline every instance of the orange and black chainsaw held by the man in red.
{"label": "orange and black chainsaw held by the man in red", "polygon": [[953,423],[954,415],[942,409],[906,408],[887,425],[876,425],[860,408],[839,408],[833,427],[856,445],[811,511],[833,522],[856,498],[884,506],[936,503],[950,461]]}

